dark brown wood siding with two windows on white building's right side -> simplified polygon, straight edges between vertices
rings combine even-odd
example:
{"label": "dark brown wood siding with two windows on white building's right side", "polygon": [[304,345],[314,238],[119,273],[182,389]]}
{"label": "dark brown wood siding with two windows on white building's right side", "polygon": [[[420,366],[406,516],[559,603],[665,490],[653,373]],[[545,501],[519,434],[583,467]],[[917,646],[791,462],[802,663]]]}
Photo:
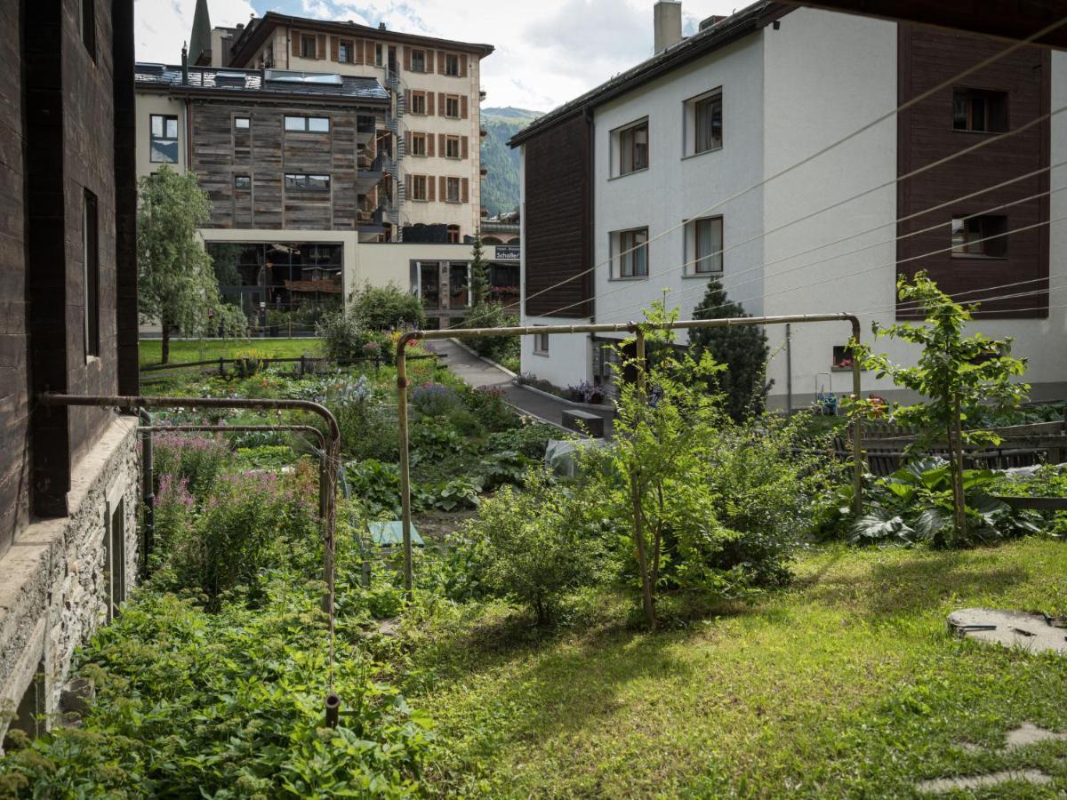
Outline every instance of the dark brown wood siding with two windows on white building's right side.
{"label": "dark brown wood siding with two windows on white building's right side", "polygon": [[[1003,43],[970,34],[898,26],[898,99],[904,102],[1003,49]],[[1047,50],[1021,48],[968,76],[959,85],[1006,92],[1008,126],[1009,129],[1015,129],[1048,113],[1051,97],[1049,69]],[[910,173],[993,135],[954,130],[952,98],[953,91],[947,89],[897,116],[898,175]],[[954,159],[944,166],[903,180],[897,185],[897,217],[913,214],[985,187],[1048,167],[1049,142],[1049,123],[1045,121],[1003,142],[987,145],[973,154]],[[949,223],[954,217],[987,210],[1005,215],[1008,230],[1047,223],[1048,196],[1004,209],[994,207],[1048,189],[1049,175],[1045,172],[943,210],[898,223],[897,235],[904,236],[940,222]],[[951,253],[944,252],[906,260],[950,245],[947,224],[901,239],[897,243],[897,259],[906,262],[897,265],[897,273],[912,275],[919,270],[926,270],[942,290],[951,294],[966,292],[960,298],[965,302],[1048,288],[1047,224],[1007,237],[1006,258],[953,258]],[[1004,289],[992,288],[1024,281],[1033,283]],[[987,287],[989,289],[983,291]],[[985,303],[980,314],[1005,318],[1044,318],[1048,316],[1047,306],[1047,293],[1031,294]],[[898,316],[907,315],[898,311]]]}

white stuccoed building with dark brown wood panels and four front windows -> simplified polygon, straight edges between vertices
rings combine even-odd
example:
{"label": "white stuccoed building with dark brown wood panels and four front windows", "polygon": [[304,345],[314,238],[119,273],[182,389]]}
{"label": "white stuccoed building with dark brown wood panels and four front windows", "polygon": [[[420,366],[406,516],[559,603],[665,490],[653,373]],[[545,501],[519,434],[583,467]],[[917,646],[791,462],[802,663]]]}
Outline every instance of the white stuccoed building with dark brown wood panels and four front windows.
{"label": "white stuccoed building with dark brown wood panels and four front windows", "polygon": [[[992,141],[1067,105],[1067,53],[1021,48],[895,114],[1007,45],[766,2],[683,38],[676,5],[656,4],[662,52],[512,142],[523,323],[640,320],[665,292],[688,318],[716,277],[753,316],[851,311],[870,339],[872,322],[897,319],[897,275],[926,269],[965,301],[1014,294],[987,303],[996,314],[976,327],[1015,338],[1034,397],[1067,396],[1067,196],[1055,191],[1067,171],[1052,169],[1067,156],[1067,115]],[[953,220],[965,228],[955,240]],[[847,324],[793,325],[792,374],[784,327],[767,335],[773,405],[851,389]],[[524,372],[563,386],[609,380],[606,337],[545,338],[524,339]],[[894,395],[873,374],[863,390]]]}

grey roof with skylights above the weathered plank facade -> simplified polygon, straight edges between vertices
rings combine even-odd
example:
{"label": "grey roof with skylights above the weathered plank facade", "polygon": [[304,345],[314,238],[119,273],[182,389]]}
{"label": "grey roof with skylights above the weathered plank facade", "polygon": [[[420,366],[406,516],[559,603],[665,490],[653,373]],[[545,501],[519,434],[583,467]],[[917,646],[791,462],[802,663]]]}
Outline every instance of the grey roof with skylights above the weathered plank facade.
{"label": "grey roof with skylights above the weathered plank facade", "polygon": [[337,100],[388,102],[388,92],[375,78],[331,73],[296,73],[282,69],[234,69],[189,67],[189,82],[181,82],[181,67],[138,62],[134,80],[139,90],[190,94],[257,94]]}

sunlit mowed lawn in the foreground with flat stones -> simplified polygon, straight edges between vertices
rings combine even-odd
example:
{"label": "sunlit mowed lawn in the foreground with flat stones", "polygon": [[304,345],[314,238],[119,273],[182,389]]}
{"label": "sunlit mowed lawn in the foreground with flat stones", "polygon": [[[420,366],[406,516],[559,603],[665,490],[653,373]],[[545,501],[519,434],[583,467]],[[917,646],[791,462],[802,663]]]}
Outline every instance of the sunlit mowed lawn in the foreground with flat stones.
{"label": "sunlit mowed lawn in the foreground with flat stones", "polygon": [[411,702],[446,751],[431,788],[910,797],[918,780],[1031,768],[1052,783],[977,796],[1067,796],[1067,741],[1001,749],[1022,722],[1067,732],[1067,657],[961,641],[945,621],[969,606],[1064,613],[1067,544],[842,547],[797,573],[754,606],[656,635],[604,599],[571,633],[538,639],[501,611],[421,649],[434,677]]}

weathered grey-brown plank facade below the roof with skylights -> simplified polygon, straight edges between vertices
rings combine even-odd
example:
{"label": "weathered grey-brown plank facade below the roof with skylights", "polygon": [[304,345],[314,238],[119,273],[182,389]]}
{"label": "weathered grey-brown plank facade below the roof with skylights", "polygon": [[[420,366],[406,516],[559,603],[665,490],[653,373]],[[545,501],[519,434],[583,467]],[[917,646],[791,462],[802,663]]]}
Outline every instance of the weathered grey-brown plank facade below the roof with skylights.
{"label": "weathered grey-brown plank facade below the roof with skylights", "polygon": [[[329,132],[285,130],[285,116],[329,116]],[[251,119],[236,129],[235,116]],[[355,227],[356,113],[197,102],[192,167],[211,199],[210,227],[351,230]],[[330,191],[286,190],[285,174],[329,175]],[[235,188],[248,175],[252,188]]]}

